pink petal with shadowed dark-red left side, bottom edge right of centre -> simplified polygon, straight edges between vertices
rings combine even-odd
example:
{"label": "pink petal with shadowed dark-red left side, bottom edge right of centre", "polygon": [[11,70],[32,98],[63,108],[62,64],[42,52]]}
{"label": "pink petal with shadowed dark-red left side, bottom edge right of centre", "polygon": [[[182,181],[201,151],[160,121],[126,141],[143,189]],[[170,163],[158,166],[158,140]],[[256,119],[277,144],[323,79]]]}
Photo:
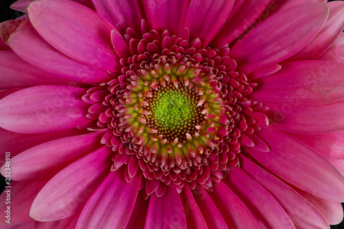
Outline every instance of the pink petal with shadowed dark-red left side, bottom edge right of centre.
{"label": "pink petal with shadowed dark-red left side, bottom edge right of centre", "polygon": [[250,210],[224,182],[219,182],[210,195],[229,227],[259,228]]}

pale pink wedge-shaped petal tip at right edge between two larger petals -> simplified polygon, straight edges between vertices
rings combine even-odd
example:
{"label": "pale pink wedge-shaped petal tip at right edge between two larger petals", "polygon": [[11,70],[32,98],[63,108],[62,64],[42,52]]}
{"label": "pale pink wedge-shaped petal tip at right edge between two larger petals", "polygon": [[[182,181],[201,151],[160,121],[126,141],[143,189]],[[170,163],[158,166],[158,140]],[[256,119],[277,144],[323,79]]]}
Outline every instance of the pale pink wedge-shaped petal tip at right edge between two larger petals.
{"label": "pale pink wedge-shaped petal tip at right edge between two larger petals", "polygon": [[344,160],[344,131],[317,135],[292,134],[324,157]]}

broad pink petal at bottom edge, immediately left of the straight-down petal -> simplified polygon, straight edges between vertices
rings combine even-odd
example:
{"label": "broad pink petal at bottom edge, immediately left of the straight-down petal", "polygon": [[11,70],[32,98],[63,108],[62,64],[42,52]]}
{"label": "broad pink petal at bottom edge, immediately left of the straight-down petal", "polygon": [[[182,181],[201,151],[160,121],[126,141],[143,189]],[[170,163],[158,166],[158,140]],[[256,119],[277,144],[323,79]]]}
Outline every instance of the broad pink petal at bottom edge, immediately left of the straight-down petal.
{"label": "broad pink petal at bottom edge, immediately left of the straight-down petal", "polygon": [[130,183],[120,169],[109,173],[89,198],[76,228],[125,228],[141,183],[136,175]]}

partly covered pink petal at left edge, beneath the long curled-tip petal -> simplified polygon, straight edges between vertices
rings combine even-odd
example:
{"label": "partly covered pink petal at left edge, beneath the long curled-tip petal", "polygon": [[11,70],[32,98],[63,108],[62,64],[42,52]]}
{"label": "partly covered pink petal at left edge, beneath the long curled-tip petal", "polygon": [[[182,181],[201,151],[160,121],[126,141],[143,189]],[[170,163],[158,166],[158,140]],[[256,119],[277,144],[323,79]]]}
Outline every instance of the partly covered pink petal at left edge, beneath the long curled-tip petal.
{"label": "partly covered pink petal at left edge, beneath the long curled-tip petal", "polygon": [[35,85],[68,85],[70,80],[52,77],[23,61],[13,51],[0,51],[0,89],[32,87]]}

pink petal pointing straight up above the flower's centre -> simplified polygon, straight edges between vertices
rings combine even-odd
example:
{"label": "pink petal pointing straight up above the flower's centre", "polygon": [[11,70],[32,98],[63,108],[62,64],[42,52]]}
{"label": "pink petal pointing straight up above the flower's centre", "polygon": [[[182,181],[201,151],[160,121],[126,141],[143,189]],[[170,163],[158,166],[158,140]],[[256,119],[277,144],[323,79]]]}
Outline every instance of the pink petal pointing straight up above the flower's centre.
{"label": "pink petal pointing straight up above the flower's centre", "polygon": [[189,1],[142,1],[153,30],[163,32],[169,30],[171,35],[179,35],[183,28]]}

